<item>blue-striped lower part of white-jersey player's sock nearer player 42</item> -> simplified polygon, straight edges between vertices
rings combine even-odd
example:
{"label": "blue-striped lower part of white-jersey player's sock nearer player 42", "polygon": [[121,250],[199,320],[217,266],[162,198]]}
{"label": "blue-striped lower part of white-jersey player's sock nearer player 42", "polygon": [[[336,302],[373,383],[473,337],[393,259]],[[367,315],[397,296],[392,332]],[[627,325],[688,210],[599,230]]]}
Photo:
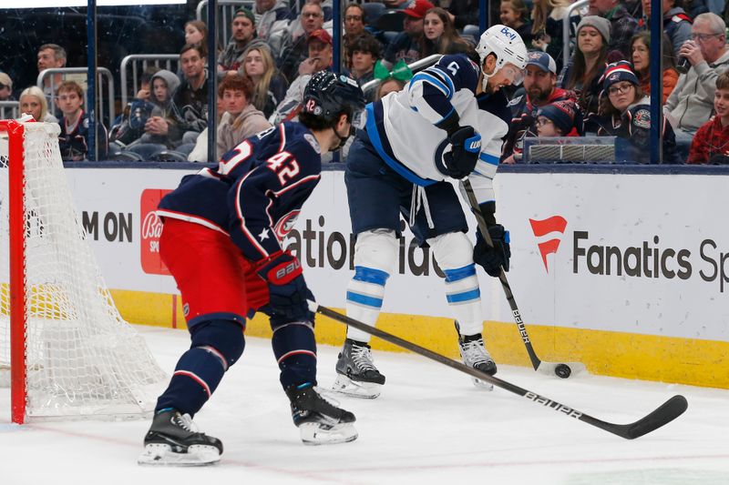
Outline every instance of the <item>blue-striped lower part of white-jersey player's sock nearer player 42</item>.
{"label": "blue-striped lower part of white-jersey player's sock nearer player 42", "polygon": [[[347,285],[347,317],[375,326],[385,298],[385,282],[389,278],[385,271],[363,266],[354,267],[354,278]],[[347,328],[347,338],[369,342],[370,335],[354,327]]]}

